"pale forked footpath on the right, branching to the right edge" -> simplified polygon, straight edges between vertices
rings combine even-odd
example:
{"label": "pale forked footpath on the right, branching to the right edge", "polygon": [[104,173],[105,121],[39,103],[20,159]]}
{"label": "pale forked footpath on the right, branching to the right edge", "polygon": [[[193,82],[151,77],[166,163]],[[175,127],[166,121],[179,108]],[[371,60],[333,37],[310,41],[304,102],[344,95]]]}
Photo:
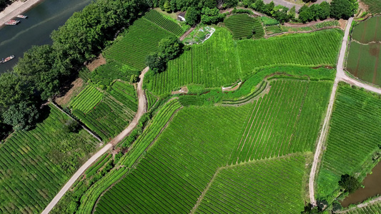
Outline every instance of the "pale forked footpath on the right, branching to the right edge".
{"label": "pale forked footpath on the right, branching to the right edge", "polygon": [[[325,115],[325,120],[322,126],[322,132],[320,133],[319,141],[317,142],[317,148],[315,151],[314,156],[314,162],[312,163],[311,173],[310,173],[310,181],[309,181],[309,189],[310,189],[310,203],[312,205],[317,205],[316,199],[315,199],[315,175],[317,174],[317,165],[321,161],[320,154],[322,153],[322,146],[326,139],[327,133],[329,131],[329,124],[330,124],[330,118],[332,116],[332,108],[333,103],[335,103],[335,96],[337,91],[337,85],[340,81],[343,81],[345,83],[349,83],[352,86],[357,86],[360,88],[365,88],[367,91],[372,91],[375,93],[381,94],[381,88],[376,88],[373,86],[369,86],[365,83],[362,83],[360,81],[357,81],[355,79],[350,78],[345,73],[343,67],[345,62],[345,53],[347,51],[347,45],[348,45],[348,38],[350,34],[350,27],[352,26],[353,18],[350,18],[347,22],[347,26],[345,26],[345,34],[344,38],[342,39],[342,46],[340,49],[340,55],[339,60],[337,61],[337,71],[336,71],[336,78],[335,82],[332,88],[332,93],[330,97],[330,103],[328,104],[327,113]],[[380,198],[381,200],[381,198]]]}

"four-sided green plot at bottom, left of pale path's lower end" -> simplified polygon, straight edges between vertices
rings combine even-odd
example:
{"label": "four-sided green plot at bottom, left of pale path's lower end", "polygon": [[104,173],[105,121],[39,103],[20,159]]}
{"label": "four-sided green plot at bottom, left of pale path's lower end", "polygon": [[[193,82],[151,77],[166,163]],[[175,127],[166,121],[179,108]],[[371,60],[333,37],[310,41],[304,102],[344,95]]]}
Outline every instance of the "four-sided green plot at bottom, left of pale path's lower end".
{"label": "four-sided green plot at bottom, left of pale path's lower end", "polygon": [[305,164],[305,156],[291,156],[224,168],[195,213],[299,213]]}

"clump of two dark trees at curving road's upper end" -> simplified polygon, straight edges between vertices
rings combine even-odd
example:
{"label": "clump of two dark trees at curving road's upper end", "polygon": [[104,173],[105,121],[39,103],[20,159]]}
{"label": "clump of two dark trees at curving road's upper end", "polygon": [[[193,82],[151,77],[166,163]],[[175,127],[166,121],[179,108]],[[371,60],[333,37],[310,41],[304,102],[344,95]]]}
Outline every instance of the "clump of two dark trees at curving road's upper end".
{"label": "clump of two dark trees at curving road's upper end", "polygon": [[183,44],[175,36],[170,36],[159,41],[159,51],[147,56],[147,66],[159,73],[167,69],[167,62],[182,54]]}

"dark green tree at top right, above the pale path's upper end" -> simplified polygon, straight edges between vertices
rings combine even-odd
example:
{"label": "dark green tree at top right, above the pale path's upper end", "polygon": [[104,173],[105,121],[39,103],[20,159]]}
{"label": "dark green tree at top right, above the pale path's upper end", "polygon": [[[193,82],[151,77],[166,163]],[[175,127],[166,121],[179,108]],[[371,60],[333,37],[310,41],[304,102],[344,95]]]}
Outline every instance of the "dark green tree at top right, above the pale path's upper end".
{"label": "dark green tree at top right, above the pale path's upper end", "polygon": [[350,19],[358,9],[357,1],[332,0],[330,16],[335,19]]}

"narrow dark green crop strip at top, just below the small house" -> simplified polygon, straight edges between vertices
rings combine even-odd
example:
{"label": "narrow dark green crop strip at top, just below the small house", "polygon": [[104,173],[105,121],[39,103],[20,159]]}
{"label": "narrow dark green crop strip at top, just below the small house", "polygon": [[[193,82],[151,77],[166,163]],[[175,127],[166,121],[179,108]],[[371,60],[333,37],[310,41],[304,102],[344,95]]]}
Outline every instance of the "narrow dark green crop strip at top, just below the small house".
{"label": "narrow dark green crop strip at top, just below the small house", "polygon": [[184,31],[181,26],[179,26],[174,21],[167,19],[158,11],[155,11],[155,10],[149,11],[144,16],[144,19],[152,21],[154,24],[161,26],[163,29],[166,29],[167,31],[171,32],[172,34],[176,36],[182,36],[182,34],[184,34]]}

